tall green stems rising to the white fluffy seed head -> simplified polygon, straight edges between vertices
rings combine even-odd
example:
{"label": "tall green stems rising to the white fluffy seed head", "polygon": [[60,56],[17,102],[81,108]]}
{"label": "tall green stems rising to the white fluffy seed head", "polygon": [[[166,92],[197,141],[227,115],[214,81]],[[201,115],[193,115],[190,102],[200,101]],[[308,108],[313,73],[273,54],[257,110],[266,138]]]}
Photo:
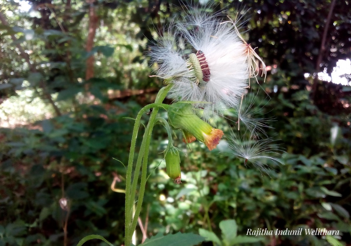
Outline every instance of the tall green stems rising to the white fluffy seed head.
{"label": "tall green stems rising to the white fluffy seed head", "polygon": [[[164,98],[166,97],[171,87],[172,87],[172,84],[168,84],[168,86],[161,88],[161,90],[157,94],[155,103],[149,104],[145,106],[143,109],[141,109],[135,120],[133,135],[132,135],[132,142],[131,142],[131,149],[130,149],[129,159],[128,159],[127,173],[126,173],[125,246],[131,245],[133,232],[135,231],[135,228],[137,226],[141,205],[143,203],[145,185],[146,185],[147,158],[148,158],[152,129],[155,123],[155,118],[161,103],[163,102]],[[137,165],[135,166],[134,176],[132,181],[132,169],[133,169],[135,144],[137,140],[138,129],[140,126],[140,119],[141,119],[141,116],[144,115],[145,112],[150,108],[154,108],[154,109],[150,116],[150,120],[146,126],[145,133],[143,136],[143,141],[141,142],[140,151],[137,159]],[[137,190],[139,171],[142,163],[143,163],[143,169],[141,171],[142,174],[141,174],[139,197],[137,202],[137,208],[133,216],[132,209],[133,209],[134,198]]]}

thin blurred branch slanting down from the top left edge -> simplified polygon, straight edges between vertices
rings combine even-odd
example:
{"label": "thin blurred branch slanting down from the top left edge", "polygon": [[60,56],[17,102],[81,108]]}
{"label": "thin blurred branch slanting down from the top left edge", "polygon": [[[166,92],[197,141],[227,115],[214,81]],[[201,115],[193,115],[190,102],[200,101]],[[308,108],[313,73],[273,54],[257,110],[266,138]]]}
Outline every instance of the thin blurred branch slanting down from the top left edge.
{"label": "thin blurred branch slanting down from the top left edge", "polygon": [[[8,22],[5,18],[4,15],[2,15],[2,13],[0,12],[0,20],[1,20],[1,23],[4,25],[4,26],[9,26],[8,25]],[[20,52],[20,55],[25,59],[25,61],[27,62],[28,64],[28,67],[29,67],[29,70],[32,72],[32,73],[35,73],[37,72],[37,69],[35,68],[35,66],[31,63],[31,60],[29,58],[29,55],[25,52],[25,50],[20,46],[20,44],[17,41],[17,38],[15,37],[14,34],[11,34],[11,38],[12,38],[12,41],[14,43],[16,43],[16,47],[18,48],[19,52]],[[56,106],[55,102],[52,100],[52,97],[51,97],[51,94],[47,92],[47,88],[46,88],[46,85],[43,81],[40,82],[40,87],[42,88],[43,90],[43,94],[44,96],[46,97],[46,99],[49,101],[49,103],[52,105],[52,107],[54,108],[55,110],[55,113],[57,114],[57,116],[61,116],[61,112],[59,110],[59,108]]]}

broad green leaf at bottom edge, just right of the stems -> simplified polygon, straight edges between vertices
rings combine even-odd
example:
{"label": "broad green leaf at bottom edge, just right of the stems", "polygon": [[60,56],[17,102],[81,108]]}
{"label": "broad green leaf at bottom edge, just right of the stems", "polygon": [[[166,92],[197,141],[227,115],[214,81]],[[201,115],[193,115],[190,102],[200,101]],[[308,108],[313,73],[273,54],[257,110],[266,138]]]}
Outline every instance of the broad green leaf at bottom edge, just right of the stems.
{"label": "broad green leaf at bottom edge, just right of the stems", "polygon": [[141,246],[193,246],[203,242],[205,238],[193,233],[176,233],[163,235],[158,233],[150,239],[146,239]]}

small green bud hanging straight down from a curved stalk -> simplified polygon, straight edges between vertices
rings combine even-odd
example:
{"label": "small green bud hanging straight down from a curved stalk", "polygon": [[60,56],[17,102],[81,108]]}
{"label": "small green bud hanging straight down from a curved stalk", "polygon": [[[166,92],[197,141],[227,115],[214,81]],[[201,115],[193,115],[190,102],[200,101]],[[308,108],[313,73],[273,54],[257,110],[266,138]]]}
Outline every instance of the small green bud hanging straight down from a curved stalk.
{"label": "small green bud hanging straight down from a curved stalk", "polygon": [[[173,145],[168,146],[165,150],[166,172],[168,177],[180,183],[180,158],[179,151]],[[176,181],[177,180],[177,181]]]}

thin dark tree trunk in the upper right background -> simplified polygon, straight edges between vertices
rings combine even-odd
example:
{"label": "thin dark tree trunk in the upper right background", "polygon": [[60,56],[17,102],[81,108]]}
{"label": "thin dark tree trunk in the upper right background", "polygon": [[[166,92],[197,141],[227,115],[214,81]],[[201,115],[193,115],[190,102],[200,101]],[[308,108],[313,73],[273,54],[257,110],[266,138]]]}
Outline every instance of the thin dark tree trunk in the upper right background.
{"label": "thin dark tree trunk in the upper right background", "polygon": [[326,37],[327,37],[327,33],[328,33],[331,15],[332,15],[333,9],[335,7],[335,2],[336,2],[336,0],[333,0],[330,4],[329,13],[328,13],[327,20],[326,20],[325,26],[324,26],[322,42],[320,43],[320,49],[319,49],[319,54],[318,54],[317,63],[316,63],[316,76],[314,76],[314,79],[313,79],[313,88],[312,88],[313,101],[316,101],[316,97],[317,97],[317,90],[318,90],[318,84],[319,84],[318,83],[318,72],[320,69],[320,63],[322,63],[323,54],[325,52],[325,41],[326,41]]}

